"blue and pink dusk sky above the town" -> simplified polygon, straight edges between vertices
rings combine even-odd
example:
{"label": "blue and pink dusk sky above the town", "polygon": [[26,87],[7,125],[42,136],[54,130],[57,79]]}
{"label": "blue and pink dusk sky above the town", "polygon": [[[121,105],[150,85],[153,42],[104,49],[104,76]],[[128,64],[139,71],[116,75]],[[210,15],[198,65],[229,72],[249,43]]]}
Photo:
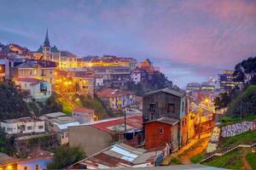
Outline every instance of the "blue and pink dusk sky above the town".
{"label": "blue and pink dusk sky above the town", "polygon": [[0,42],[151,59],[183,87],[256,55],[256,1],[0,0]]}

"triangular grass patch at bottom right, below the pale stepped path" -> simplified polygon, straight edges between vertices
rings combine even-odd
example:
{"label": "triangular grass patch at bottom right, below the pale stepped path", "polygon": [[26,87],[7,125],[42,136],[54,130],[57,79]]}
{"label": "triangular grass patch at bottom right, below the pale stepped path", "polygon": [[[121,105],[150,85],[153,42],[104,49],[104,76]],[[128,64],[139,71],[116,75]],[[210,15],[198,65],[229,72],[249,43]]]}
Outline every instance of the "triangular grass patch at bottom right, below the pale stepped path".
{"label": "triangular grass patch at bottom right, below the pale stepped path", "polygon": [[240,169],[242,167],[241,152],[239,150],[233,150],[224,156],[213,158],[212,161],[208,161],[203,164],[211,167]]}

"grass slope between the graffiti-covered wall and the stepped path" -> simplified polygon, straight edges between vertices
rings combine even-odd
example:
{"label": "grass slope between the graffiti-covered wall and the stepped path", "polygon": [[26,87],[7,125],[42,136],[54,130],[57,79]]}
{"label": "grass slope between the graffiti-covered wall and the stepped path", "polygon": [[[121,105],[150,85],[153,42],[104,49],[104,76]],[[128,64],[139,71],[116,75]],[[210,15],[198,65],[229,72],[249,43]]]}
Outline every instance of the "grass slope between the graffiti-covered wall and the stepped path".
{"label": "grass slope between the graffiti-covered wall and the stepped path", "polygon": [[256,131],[247,131],[236,136],[224,138],[221,140],[220,150],[226,150],[235,147],[238,144],[253,144],[256,142]]}

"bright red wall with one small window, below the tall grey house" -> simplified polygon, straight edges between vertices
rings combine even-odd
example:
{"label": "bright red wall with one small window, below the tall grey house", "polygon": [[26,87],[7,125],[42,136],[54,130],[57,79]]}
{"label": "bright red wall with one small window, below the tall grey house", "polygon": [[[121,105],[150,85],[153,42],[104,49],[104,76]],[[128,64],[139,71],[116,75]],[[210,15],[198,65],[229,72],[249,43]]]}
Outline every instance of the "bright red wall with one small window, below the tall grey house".
{"label": "bright red wall with one small window, below the tall grey house", "polygon": [[[160,133],[160,128],[163,133]],[[160,122],[148,122],[144,124],[145,129],[145,148],[152,149],[164,144],[171,143],[172,126]]]}

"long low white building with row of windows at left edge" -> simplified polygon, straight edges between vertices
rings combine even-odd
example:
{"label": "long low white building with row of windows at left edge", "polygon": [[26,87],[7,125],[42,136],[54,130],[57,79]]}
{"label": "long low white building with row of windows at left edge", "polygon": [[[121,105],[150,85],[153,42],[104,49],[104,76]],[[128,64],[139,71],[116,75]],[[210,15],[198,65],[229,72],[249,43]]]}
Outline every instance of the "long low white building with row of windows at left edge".
{"label": "long low white building with row of windows at left edge", "polygon": [[44,121],[32,117],[21,117],[1,122],[1,127],[9,134],[44,133]]}

